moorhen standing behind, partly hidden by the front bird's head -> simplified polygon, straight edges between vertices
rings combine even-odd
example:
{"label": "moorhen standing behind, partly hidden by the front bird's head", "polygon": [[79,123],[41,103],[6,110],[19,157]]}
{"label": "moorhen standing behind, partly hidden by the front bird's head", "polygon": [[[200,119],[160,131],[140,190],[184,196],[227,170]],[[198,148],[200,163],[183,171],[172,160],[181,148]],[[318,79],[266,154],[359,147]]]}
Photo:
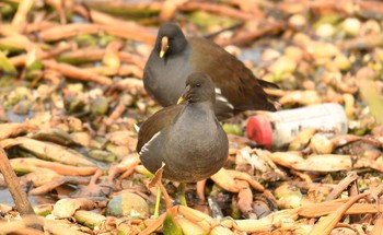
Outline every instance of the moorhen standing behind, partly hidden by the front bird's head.
{"label": "moorhen standing behind, partly hidden by the front bird's head", "polygon": [[245,110],[276,110],[264,91],[278,89],[276,84],[257,79],[241,60],[217,44],[204,37],[186,37],[177,24],[164,23],[143,69],[146,91],[161,106],[174,105],[193,72],[211,78],[219,120]]}

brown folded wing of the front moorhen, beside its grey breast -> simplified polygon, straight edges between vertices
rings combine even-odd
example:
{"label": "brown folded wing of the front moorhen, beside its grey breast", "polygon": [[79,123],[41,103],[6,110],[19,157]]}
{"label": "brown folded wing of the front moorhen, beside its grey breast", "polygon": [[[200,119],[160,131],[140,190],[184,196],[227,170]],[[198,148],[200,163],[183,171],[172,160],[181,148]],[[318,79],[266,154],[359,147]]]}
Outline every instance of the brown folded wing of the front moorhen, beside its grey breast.
{"label": "brown folded wing of the front moorhen, beside its grey breast", "polygon": [[141,148],[150,141],[155,133],[171,126],[183,107],[183,105],[169,106],[159,110],[142,122],[138,131],[137,152],[139,153]]}

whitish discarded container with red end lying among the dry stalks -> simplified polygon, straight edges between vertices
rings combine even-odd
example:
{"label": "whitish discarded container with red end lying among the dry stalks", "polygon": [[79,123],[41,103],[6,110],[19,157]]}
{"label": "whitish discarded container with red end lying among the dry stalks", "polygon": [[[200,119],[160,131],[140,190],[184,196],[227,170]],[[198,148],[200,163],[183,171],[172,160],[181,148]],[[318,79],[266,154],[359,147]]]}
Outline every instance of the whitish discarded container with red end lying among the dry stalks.
{"label": "whitish discarded container with red end lying among the dry stalks", "polygon": [[347,133],[347,116],[339,104],[325,103],[302,108],[252,116],[247,120],[247,138],[268,149],[290,143],[309,128]]}

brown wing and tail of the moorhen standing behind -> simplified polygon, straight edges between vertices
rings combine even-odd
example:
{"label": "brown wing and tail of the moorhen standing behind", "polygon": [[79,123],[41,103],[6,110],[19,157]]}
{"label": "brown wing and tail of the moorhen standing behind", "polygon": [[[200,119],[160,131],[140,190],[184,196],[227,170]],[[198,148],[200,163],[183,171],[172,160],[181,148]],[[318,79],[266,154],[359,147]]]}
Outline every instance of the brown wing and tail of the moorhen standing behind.
{"label": "brown wing and tail of the moorhen standing behind", "polygon": [[275,110],[263,89],[277,85],[258,80],[241,60],[208,39],[188,37],[188,43],[194,69],[208,73],[235,109]]}

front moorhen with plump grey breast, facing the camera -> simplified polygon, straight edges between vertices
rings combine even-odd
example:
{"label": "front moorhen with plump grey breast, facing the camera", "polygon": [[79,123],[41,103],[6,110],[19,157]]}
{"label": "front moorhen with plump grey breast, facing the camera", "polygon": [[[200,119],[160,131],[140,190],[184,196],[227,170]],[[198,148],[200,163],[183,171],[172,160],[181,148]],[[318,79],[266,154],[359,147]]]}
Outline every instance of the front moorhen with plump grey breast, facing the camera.
{"label": "front moorhen with plump grey breast, facing the camera", "polygon": [[217,173],[227,162],[229,140],[213,107],[214,85],[202,72],[188,75],[177,105],[165,107],[138,131],[137,152],[151,173],[163,168],[163,178],[193,183]]}

